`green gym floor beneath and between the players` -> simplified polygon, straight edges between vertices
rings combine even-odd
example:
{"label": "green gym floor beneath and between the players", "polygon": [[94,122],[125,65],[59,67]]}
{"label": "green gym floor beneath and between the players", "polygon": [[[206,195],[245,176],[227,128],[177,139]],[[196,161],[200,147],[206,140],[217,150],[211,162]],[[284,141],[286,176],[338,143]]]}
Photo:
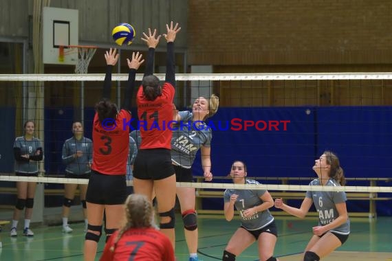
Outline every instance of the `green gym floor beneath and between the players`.
{"label": "green gym floor beneath and between the players", "polygon": [[[177,220],[175,256],[178,261],[188,260],[180,216]],[[301,260],[301,252],[312,236],[311,227],[316,225],[316,220],[276,218],[276,224],[279,238],[274,256],[279,260]],[[60,226],[35,227],[32,229],[34,238],[21,236],[20,230],[19,236],[10,238],[8,226],[1,233],[0,260],[83,260],[83,223],[72,224],[72,234],[61,233]],[[199,216],[199,259],[221,260],[222,251],[238,226],[239,220],[227,222],[222,216]],[[103,242],[101,238],[100,251]],[[100,252],[96,260],[99,256]],[[257,246],[246,249],[237,260],[258,260]],[[345,245],[323,260],[392,261],[392,217],[351,220],[351,235]]]}

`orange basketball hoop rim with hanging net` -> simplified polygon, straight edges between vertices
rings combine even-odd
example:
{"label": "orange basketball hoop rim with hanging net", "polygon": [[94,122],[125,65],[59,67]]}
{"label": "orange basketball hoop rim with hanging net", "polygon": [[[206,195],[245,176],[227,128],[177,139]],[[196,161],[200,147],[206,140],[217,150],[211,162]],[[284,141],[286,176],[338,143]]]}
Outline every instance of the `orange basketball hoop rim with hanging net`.
{"label": "orange basketball hoop rim with hanging net", "polygon": [[[96,53],[97,46],[93,45],[67,45],[58,47],[58,61],[63,63],[64,56],[78,52],[75,73],[87,73],[89,63]],[[69,50],[65,50],[69,49]]]}

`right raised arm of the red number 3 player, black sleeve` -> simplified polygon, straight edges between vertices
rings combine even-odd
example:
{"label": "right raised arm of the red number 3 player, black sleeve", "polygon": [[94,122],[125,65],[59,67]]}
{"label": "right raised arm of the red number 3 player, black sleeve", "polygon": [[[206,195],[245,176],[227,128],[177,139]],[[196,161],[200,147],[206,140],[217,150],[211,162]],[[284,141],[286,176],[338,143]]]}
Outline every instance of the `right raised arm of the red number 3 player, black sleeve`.
{"label": "right raised arm of the red number 3 player, black sleeve", "polygon": [[128,73],[128,83],[127,83],[127,89],[125,89],[125,97],[124,97],[124,102],[122,103],[122,108],[126,109],[128,111],[131,111],[131,105],[132,105],[132,96],[133,96],[133,89],[135,89],[135,77],[136,77],[136,70],[139,69],[140,65],[144,62],[142,60],[142,54],[139,54],[137,52],[132,53],[132,60],[129,60],[127,58],[127,63],[129,67],[129,73]]}

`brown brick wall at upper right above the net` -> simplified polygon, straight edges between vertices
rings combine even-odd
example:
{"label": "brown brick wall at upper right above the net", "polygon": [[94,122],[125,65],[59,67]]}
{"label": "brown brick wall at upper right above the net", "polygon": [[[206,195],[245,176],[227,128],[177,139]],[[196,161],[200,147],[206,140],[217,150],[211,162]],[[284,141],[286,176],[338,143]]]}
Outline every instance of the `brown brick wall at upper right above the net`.
{"label": "brown brick wall at upper right above the net", "polygon": [[190,65],[392,65],[390,0],[188,3]]}

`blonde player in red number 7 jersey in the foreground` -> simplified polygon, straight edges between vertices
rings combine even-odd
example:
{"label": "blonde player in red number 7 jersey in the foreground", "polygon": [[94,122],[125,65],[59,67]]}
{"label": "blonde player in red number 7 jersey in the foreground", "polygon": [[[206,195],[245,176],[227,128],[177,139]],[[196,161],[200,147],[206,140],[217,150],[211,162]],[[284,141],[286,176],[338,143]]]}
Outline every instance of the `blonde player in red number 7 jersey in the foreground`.
{"label": "blonde player in red number 7 jersey in the foreground", "polygon": [[153,205],[146,196],[129,195],[125,214],[125,225],[109,238],[100,261],[175,260],[170,240],[155,227]]}

